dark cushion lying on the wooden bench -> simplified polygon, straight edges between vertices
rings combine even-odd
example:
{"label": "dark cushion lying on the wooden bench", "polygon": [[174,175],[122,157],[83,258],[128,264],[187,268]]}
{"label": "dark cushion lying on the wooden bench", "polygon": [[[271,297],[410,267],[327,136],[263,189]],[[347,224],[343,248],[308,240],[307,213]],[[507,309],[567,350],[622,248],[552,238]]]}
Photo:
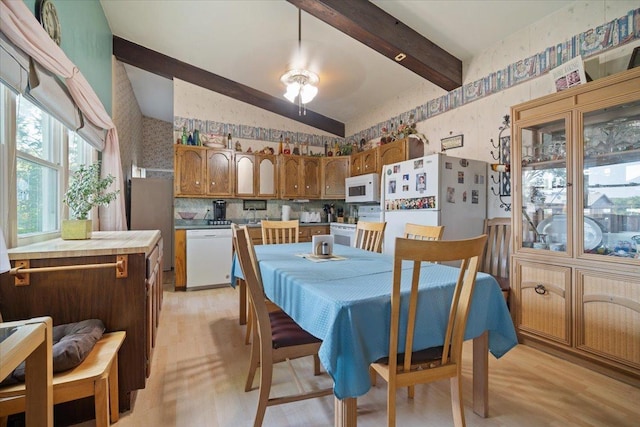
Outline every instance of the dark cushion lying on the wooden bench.
{"label": "dark cushion lying on the wooden bench", "polygon": [[[53,335],[53,372],[75,368],[87,357],[105,331],[100,319],[88,319],[76,323],[57,325]],[[22,362],[0,386],[24,382],[25,364]]]}

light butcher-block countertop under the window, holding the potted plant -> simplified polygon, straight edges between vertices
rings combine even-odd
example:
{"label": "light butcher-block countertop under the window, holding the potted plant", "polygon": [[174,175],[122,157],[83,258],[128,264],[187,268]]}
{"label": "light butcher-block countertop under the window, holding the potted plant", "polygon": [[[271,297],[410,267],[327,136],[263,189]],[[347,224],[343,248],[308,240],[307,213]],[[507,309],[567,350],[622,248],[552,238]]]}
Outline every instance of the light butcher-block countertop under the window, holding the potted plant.
{"label": "light butcher-block countertop under the window, holding the potted plant", "polygon": [[94,231],[91,239],[52,239],[9,249],[9,259],[42,259],[99,255],[150,254],[160,230]]}

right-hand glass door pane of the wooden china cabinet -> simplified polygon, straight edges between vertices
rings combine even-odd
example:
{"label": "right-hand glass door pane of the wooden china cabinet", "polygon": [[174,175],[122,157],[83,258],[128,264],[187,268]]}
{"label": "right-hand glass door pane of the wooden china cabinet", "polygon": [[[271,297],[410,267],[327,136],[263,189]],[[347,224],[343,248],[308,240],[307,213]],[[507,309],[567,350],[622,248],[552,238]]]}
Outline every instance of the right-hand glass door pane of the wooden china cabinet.
{"label": "right-hand glass door pane of the wooden china cabinet", "polygon": [[[640,101],[583,113],[581,253],[639,258]],[[581,219],[578,218],[578,221]]]}

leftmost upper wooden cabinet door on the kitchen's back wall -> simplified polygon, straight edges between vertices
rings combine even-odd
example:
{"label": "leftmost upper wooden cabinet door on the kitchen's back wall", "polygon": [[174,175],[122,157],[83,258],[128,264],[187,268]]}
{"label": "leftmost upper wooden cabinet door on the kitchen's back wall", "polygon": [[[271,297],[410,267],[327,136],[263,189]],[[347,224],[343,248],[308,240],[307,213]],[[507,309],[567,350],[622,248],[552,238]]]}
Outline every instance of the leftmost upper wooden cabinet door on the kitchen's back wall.
{"label": "leftmost upper wooden cabinet door on the kitchen's back wall", "polygon": [[206,151],[197,147],[175,147],[175,192],[178,196],[204,194]]}

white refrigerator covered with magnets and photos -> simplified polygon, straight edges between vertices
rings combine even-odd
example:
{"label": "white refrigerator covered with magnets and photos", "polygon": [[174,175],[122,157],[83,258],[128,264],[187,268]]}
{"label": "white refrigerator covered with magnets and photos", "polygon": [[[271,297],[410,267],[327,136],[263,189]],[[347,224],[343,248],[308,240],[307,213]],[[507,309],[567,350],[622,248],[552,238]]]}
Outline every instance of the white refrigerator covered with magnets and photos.
{"label": "white refrigerator covered with magnets and photos", "polygon": [[487,215],[487,163],[432,154],[382,168],[383,252],[393,255],[407,223],[444,225],[443,239],[482,234]]}

